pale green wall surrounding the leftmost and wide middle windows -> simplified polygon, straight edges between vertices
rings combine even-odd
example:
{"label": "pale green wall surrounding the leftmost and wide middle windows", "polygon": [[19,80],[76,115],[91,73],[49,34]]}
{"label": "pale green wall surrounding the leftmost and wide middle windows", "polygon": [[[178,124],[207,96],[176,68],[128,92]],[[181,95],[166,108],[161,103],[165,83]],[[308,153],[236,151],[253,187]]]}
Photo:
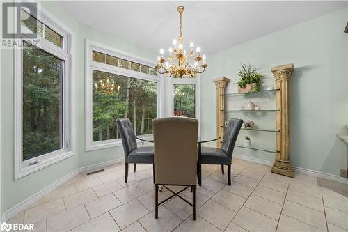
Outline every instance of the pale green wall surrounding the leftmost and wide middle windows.
{"label": "pale green wall surrounding the leftmost and wide middle windows", "polygon": [[[79,24],[57,2],[44,1],[42,6],[49,10],[75,33],[76,55],[72,58],[75,63],[77,116],[77,155],[61,162],[40,169],[28,176],[14,180],[13,164],[13,52],[10,49],[1,50],[1,215],[13,208],[29,196],[51,185],[79,167],[86,167],[109,160],[123,157],[122,147],[85,152],[85,101],[84,101],[84,41],[85,38],[95,40],[104,45],[115,47],[126,52],[141,56],[145,59],[155,59],[156,54],[133,45],[130,42],[102,33],[88,26]],[[1,217],[0,217],[1,218]]]}

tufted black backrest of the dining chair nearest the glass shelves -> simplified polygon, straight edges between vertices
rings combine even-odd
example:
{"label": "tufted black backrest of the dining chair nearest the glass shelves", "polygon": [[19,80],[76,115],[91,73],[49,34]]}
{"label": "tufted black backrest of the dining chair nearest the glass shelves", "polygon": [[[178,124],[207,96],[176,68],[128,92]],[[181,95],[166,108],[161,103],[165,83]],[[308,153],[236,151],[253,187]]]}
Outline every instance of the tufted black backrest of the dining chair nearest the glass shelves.
{"label": "tufted black backrest of the dining chair nearest the glass shelves", "polygon": [[228,121],[221,149],[228,155],[229,162],[232,160],[233,148],[235,148],[235,143],[242,124],[242,119],[231,118],[230,121]]}

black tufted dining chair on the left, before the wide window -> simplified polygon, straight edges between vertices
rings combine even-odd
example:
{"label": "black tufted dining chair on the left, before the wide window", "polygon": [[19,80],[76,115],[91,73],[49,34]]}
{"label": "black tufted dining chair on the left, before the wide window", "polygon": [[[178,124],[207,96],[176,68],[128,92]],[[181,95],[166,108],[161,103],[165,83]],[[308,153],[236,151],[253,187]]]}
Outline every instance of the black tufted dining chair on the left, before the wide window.
{"label": "black tufted dining chair on the left, before the wide window", "polygon": [[134,164],[133,171],[136,171],[136,164],[153,164],[152,146],[138,148],[136,136],[129,118],[118,118],[116,120],[120,132],[123,150],[125,151],[125,183],[128,179],[128,164]]}

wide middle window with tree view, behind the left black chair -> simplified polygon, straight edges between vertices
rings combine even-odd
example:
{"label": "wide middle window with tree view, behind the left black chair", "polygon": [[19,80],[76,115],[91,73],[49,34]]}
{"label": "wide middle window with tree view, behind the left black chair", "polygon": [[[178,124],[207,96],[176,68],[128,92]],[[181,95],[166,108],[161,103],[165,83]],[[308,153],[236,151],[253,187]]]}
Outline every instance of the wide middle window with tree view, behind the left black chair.
{"label": "wide middle window with tree view, behind the left black chair", "polygon": [[86,150],[122,145],[117,118],[129,118],[138,136],[152,134],[160,93],[154,64],[90,41],[86,53]]}

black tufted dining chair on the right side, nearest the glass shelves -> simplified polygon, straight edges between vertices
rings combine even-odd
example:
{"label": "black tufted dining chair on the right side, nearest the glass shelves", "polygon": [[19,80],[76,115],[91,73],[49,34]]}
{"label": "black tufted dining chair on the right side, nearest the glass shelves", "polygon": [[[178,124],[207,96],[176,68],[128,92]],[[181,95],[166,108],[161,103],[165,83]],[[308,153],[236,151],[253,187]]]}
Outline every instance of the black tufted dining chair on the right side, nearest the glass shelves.
{"label": "black tufted dining chair on the right side, nearest the glass shelves", "polygon": [[242,119],[231,118],[230,121],[228,121],[228,126],[226,127],[225,135],[223,136],[221,148],[203,147],[200,153],[200,165],[221,164],[221,171],[223,174],[223,165],[227,165],[228,185],[231,185],[231,164],[233,149],[235,148],[235,143],[242,124]]}

